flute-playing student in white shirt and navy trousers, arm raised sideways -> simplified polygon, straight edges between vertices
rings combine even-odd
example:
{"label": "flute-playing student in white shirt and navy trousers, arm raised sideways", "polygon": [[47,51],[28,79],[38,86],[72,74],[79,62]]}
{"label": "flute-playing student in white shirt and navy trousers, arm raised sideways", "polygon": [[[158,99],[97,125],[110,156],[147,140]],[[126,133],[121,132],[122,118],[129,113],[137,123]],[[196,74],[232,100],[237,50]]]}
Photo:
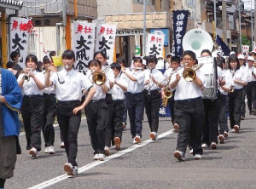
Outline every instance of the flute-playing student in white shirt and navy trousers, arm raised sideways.
{"label": "flute-playing student in white shirt and navy trousers, arm raised sideways", "polygon": [[133,71],[126,71],[122,67],[122,72],[129,77],[127,89],[127,107],[131,124],[131,136],[134,144],[142,142],[143,131],[143,109],[144,109],[144,78],[145,73],[137,67],[143,67],[143,59],[136,57],[133,59],[135,69]]}

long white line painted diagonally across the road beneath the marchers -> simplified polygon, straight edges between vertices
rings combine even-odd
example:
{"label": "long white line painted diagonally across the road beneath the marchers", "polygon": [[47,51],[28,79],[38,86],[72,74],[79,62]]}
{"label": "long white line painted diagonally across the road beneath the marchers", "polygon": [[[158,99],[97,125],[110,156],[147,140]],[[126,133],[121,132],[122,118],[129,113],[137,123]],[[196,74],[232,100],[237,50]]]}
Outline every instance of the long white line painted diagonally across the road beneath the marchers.
{"label": "long white line painted diagonally across the road beneath the marchers", "polygon": [[[161,139],[167,135],[171,135],[173,133],[173,130],[168,130],[166,131],[165,133],[162,133],[161,135],[158,135],[158,138]],[[153,142],[154,140],[145,140],[143,141],[140,145],[133,145],[123,151],[120,151],[120,152],[117,152],[117,153],[114,153],[113,155],[105,158],[105,161],[96,161],[96,162],[93,162],[93,163],[89,163],[87,165],[84,165],[83,167],[79,168],[79,173],[83,173],[84,171],[86,170],[89,170],[89,169],[92,169],[102,163],[107,163],[108,161],[112,160],[113,158],[118,158],[120,156],[123,156],[125,155],[126,153],[129,153],[129,152],[132,152],[134,150],[136,150],[137,148],[140,148],[140,147],[143,147],[143,146],[146,146],[148,145],[149,143]],[[54,185],[55,183],[57,182],[60,182],[61,180],[66,180],[67,178],[69,178],[70,176],[67,176],[66,174],[65,175],[60,175],[60,176],[57,176],[51,180],[47,180],[47,181],[44,181],[36,186],[32,186],[30,187],[29,189],[41,189],[41,188],[45,188],[45,187],[48,187],[48,186],[52,186]]]}

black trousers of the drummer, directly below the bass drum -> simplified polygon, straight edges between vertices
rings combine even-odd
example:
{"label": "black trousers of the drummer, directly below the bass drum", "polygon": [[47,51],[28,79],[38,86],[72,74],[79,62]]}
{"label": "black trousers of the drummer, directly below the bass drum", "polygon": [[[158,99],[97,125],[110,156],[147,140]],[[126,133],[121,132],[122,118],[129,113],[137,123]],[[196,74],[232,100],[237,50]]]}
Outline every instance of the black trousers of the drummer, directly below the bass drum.
{"label": "black trousers of the drummer, directly below the bass drum", "polygon": [[202,143],[218,144],[218,99],[203,99],[205,116]]}

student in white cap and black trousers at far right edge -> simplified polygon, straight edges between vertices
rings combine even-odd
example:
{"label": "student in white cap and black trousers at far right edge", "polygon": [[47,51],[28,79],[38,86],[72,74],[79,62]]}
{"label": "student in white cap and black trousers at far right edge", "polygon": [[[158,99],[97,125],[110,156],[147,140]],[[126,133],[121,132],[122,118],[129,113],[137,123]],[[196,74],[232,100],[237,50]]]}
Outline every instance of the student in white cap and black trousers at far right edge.
{"label": "student in white cap and black trousers at far right edge", "polygon": [[247,59],[247,106],[250,115],[256,115],[256,69],[253,67],[253,56],[249,56]]}

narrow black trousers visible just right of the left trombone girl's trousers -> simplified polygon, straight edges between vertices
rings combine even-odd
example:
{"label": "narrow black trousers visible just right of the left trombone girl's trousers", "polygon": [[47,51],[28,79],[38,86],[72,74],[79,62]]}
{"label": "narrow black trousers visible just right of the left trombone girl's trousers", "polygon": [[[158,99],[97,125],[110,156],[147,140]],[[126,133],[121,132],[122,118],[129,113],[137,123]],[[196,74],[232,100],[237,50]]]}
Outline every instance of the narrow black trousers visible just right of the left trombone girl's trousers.
{"label": "narrow black trousers visible just right of the left trombone girl's trousers", "polygon": [[106,122],[106,136],[105,136],[105,146],[111,146],[112,141],[112,117],[113,117],[113,98],[111,94],[106,94],[106,104],[108,106],[107,111],[107,122]]}

